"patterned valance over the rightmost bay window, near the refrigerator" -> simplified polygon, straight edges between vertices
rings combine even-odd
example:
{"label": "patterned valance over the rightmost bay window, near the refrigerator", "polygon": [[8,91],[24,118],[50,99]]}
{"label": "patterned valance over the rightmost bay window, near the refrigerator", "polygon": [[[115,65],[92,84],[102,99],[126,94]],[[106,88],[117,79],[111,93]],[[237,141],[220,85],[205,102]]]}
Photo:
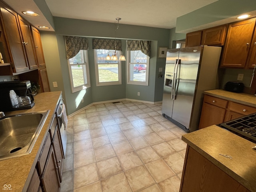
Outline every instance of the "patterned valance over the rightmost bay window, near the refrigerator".
{"label": "patterned valance over the rightmost bay window, near the refrigerator", "polygon": [[142,53],[146,54],[149,57],[150,57],[150,46],[151,46],[151,41],[145,41],[145,40],[128,40],[127,41],[128,51],[140,50]]}

